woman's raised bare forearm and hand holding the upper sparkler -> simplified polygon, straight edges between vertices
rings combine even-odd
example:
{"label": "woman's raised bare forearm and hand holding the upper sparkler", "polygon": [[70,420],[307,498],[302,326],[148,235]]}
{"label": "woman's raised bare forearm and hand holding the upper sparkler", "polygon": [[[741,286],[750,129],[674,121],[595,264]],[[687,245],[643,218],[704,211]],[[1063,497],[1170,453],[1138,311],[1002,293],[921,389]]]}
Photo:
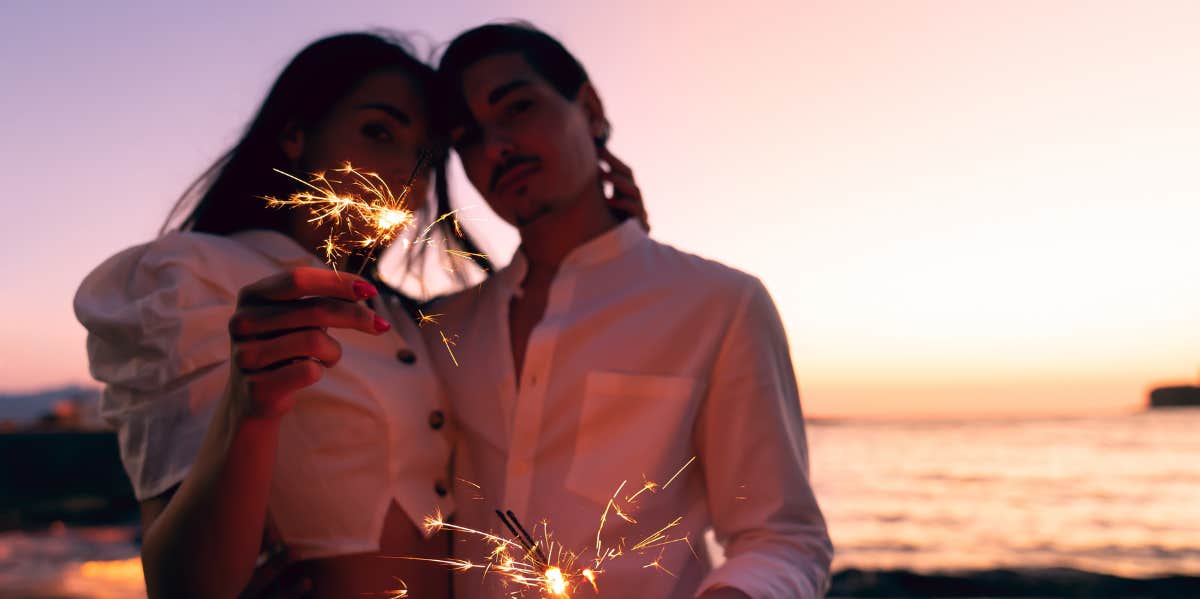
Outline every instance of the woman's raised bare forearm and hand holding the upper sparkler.
{"label": "woman's raised bare forearm and hand holding the upper sparkler", "polygon": [[233,358],[224,396],[182,485],[145,529],[142,564],[151,599],[232,599],[250,581],[280,420],[295,391],[341,358],[326,328],[368,334],[390,328],[358,304],[376,293],[359,277],[314,268],[241,290],[229,321]]}

